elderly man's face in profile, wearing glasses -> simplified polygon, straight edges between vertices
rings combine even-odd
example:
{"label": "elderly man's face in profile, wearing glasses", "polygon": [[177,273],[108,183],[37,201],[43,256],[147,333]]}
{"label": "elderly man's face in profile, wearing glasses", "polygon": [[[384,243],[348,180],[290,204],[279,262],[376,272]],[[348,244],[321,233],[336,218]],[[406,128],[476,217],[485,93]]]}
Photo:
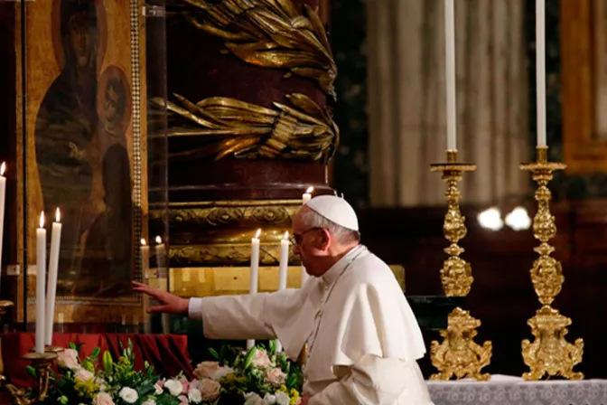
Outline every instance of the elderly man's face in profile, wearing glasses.
{"label": "elderly man's face in profile, wearing glasses", "polygon": [[322,229],[311,228],[304,223],[302,213],[309,210],[303,207],[297,212],[293,219],[293,243],[294,251],[298,253],[308,274],[321,276],[325,268],[322,266],[323,259],[328,255],[328,243],[323,240]]}

